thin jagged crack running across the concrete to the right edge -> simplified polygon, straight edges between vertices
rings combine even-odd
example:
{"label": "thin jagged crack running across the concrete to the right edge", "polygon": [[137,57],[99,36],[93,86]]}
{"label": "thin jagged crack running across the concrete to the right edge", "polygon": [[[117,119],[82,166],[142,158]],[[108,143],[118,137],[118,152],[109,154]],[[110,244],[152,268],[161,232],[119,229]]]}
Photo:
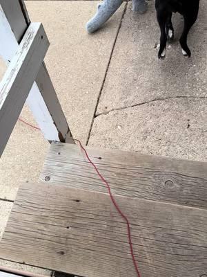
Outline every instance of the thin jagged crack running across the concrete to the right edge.
{"label": "thin jagged crack running across the concrete to the right edge", "polygon": [[112,111],[121,111],[123,109],[129,109],[129,108],[133,108],[133,107],[139,107],[141,105],[146,105],[146,104],[149,104],[151,102],[157,102],[157,101],[164,101],[164,100],[169,100],[169,99],[181,99],[181,98],[193,98],[193,99],[204,99],[206,98],[207,99],[207,96],[170,96],[170,97],[166,97],[166,98],[155,98],[155,99],[152,99],[152,100],[149,100],[149,101],[146,101],[146,102],[141,102],[141,103],[137,103],[137,104],[134,104],[134,105],[129,105],[129,106],[126,106],[126,107],[119,107],[119,108],[115,108],[115,109],[110,109],[109,111],[103,111],[102,113],[100,114],[96,114],[95,115],[95,118],[97,118],[98,116],[106,116],[107,114],[110,114],[110,112]]}

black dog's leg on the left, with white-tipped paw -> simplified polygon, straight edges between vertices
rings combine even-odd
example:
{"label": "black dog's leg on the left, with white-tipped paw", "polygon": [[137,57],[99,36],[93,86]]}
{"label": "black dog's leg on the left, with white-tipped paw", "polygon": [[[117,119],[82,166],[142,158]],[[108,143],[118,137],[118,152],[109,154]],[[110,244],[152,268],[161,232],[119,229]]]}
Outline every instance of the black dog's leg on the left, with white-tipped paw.
{"label": "black dog's leg on the left, with white-tipped paw", "polygon": [[168,13],[164,10],[157,9],[157,21],[159,23],[159,28],[161,31],[160,36],[160,48],[158,57],[159,59],[164,59],[166,56],[166,44],[167,44],[167,35],[166,35],[166,22],[168,19]]}

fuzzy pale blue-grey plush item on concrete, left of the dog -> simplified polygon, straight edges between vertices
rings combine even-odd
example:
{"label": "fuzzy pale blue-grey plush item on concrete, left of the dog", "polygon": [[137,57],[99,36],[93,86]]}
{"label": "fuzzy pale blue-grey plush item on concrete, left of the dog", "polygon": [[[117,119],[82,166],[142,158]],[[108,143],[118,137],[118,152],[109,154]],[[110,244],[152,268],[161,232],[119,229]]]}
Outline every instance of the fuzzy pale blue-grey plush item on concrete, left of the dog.
{"label": "fuzzy pale blue-grey plush item on concrete, left of the dog", "polygon": [[[146,12],[146,0],[132,0],[132,2],[134,12]],[[86,30],[88,33],[93,33],[95,30],[98,30],[108,19],[110,19],[122,3],[123,0],[103,0],[103,3],[98,5],[95,16],[86,24]]]}

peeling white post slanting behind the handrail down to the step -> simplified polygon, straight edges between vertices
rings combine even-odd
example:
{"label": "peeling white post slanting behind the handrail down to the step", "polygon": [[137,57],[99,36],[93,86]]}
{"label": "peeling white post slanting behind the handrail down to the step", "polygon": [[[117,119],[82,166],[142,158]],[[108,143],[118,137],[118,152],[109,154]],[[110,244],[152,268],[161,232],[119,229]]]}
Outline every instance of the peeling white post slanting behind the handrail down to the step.
{"label": "peeling white post slanting behind the handrail down to the step", "polygon": [[[23,0],[0,0],[0,4],[0,55],[9,64],[30,21]],[[74,143],[44,62],[26,103],[48,141]]]}

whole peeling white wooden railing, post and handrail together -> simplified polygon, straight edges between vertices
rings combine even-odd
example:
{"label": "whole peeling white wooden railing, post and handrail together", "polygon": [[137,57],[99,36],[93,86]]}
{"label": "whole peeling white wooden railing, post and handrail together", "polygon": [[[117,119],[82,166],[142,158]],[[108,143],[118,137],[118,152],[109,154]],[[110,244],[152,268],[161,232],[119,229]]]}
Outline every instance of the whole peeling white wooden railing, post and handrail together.
{"label": "whole peeling white wooden railing, post and handrail together", "polygon": [[49,42],[40,23],[30,23],[23,0],[0,0],[0,55],[8,69],[0,84],[0,157],[28,105],[48,141],[74,143],[43,59]]}

